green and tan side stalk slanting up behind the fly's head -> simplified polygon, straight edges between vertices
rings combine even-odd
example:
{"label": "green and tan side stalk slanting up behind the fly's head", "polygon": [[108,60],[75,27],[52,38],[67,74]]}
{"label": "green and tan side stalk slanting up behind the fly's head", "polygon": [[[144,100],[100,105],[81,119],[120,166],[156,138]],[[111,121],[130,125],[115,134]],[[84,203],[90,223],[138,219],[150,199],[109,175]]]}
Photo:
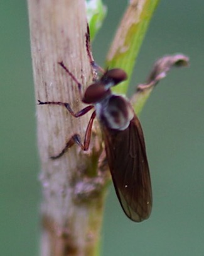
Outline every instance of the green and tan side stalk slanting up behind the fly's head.
{"label": "green and tan side stalk slanting up behind the fly's head", "polygon": [[127,81],[114,88],[116,93],[126,94],[139,49],[158,3],[159,0],[133,0],[124,13],[105,63],[108,68],[120,67],[128,74]]}

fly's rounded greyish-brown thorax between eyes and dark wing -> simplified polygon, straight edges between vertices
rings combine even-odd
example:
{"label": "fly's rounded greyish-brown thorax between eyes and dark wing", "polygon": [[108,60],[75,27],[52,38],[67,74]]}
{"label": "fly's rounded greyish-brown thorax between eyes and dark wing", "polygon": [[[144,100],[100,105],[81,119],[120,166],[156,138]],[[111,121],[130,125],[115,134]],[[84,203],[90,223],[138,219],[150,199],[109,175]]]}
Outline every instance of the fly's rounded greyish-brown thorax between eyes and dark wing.
{"label": "fly's rounded greyish-brown thorax between eyes and dark wing", "polygon": [[131,105],[124,96],[109,95],[104,100],[95,104],[97,119],[102,125],[107,125],[110,129],[125,130],[134,112]]}

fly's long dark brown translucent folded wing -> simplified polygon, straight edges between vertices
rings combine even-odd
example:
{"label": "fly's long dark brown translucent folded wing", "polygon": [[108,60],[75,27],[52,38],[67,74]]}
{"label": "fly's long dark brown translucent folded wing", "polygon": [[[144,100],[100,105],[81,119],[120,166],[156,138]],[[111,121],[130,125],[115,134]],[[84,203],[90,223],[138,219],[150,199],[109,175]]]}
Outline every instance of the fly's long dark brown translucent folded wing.
{"label": "fly's long dark brown translucent folded wing", "polygon": [[132,221],[148,219],[151,180],[141,124],[136,115],[124,131],[102,125],[105,151],[117,197]]}

